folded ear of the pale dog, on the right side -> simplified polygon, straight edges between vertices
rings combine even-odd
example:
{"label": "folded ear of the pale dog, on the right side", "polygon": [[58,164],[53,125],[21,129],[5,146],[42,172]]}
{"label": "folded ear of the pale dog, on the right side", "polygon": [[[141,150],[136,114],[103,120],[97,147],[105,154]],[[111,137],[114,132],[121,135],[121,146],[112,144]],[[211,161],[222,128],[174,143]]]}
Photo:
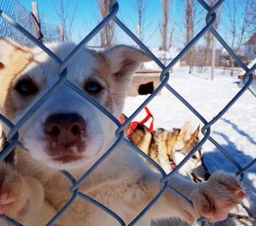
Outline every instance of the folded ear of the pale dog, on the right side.
{"label": "folded ear of the pale dog, on the right side", "polygon": [[151,59],[142,50],[118,45],[102,53],[109,62],[110,70],[117,80],[130,77],[143,62]]}

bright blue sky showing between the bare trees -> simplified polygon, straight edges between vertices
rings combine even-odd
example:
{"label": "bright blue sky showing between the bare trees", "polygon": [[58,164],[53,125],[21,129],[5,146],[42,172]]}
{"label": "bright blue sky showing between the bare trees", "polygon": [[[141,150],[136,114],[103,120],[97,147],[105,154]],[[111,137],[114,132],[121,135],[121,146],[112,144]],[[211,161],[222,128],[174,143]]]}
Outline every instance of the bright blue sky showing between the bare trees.
{"label": "bright blue sky showing between the bare trees", "polygon": [[[119,19],[125,22],[125,25],[128,26],[132,32],[136,32],[137,26],[137,14],[134,8],[133,2],[134,0],[119,0]],[[231,3],[232,1],[238,0],[226,0],[224,4]],[[253,0],[252,0],[253,1]],[[55,6],[54,0],[38,0],[39,13],[41,15],[42,20],[44,20],[47,24],[58,24],[58,18],[55,16]],[[74,1],[69,2],[68,8],[73,9]],[[145,15],[145,24],[144,24],[144,36],[143,42],[146,43],[150,48],[159,47],[160,46],[160,19],[162,17],[162,8],[160,4],[160,0],[148,0],[147,4],[147,12]],[[174,38],[173,44],[176,47],[183,47],[184,40],[184,4],[183,0],[172,0],[171,1],[171,9],[170,9],[170,29],[174,26]],[[31,0],[20,0],[20,3],[27,9],[31,11]],[[73,23],[73,40],[75,42],[79,42],[81,38],[84,37],[90,30],[96,26],[96,23],[100,20],[100,12],[97,7],[96,0],[78,0],[79,8],[77,10],[75,20]],[[198,8],[198,18],[200,20],[197,25],[197,31],[205,26],[205,18],[207,15],[207,11],[203,9],[201,6]],[[242,9],[238,9],[237,14],[241,14]],[[227,15],[223,14],[222,23],[219,26],[218,31],[220,34],[224,36],[224,38],[229,41],[230,34],[226,29],[226,20]],[[174,25],[172,25],[172,21]],[[128,43],[134,44],[130,38],[128,38],[124,32],[120,31],[118,28],[116,29],[116,43]],[[94,45],[98,42],[98,38],[94,38],[91,45]],[[201,45],[204,44],[203,39],[199,43]]]}

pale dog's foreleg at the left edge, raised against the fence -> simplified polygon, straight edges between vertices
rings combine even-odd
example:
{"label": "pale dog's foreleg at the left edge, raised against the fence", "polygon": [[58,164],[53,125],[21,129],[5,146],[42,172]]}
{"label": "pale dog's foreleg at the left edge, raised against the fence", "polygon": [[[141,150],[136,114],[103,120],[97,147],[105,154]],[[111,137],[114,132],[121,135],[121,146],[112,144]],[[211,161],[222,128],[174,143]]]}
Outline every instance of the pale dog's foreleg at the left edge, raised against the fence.
{"label": "pale dog's foreleg at the left edge, raised against the fence", "polygon": [[[32,177],[22,177],[11,166],[0,162],[0,214],[26,226],[39,226],[47,223],[54,213],[44,202],[41,183]],[[5,224],[1,220],[0,223]]]}

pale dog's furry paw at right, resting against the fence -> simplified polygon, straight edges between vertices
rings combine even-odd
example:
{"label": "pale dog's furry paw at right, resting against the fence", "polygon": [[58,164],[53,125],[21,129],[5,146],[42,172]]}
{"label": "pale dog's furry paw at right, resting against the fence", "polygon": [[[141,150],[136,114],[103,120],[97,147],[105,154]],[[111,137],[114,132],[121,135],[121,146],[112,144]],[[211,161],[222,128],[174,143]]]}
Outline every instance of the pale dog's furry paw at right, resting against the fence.
{"label": "pale dog's furry paw at right, resting against the fence", "polygon": [[198,184],[191,194],[195,211],[208,222],[224,220],[231,209],[246,198],[241,183],[233,174],[218,171],[206,183]]}

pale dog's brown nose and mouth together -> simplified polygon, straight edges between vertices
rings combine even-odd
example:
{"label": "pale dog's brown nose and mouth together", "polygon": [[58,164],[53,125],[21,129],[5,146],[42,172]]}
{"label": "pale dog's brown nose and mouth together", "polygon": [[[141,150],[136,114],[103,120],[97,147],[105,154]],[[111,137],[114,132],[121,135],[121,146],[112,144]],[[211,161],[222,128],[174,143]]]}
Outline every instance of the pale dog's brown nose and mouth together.
{"label": "pale dog's brown nose and mouth together", "polygon": [[81,159],[85,132],[84,119],[77,113],[50,115],[44,123],[48,154],[62,163]]}

